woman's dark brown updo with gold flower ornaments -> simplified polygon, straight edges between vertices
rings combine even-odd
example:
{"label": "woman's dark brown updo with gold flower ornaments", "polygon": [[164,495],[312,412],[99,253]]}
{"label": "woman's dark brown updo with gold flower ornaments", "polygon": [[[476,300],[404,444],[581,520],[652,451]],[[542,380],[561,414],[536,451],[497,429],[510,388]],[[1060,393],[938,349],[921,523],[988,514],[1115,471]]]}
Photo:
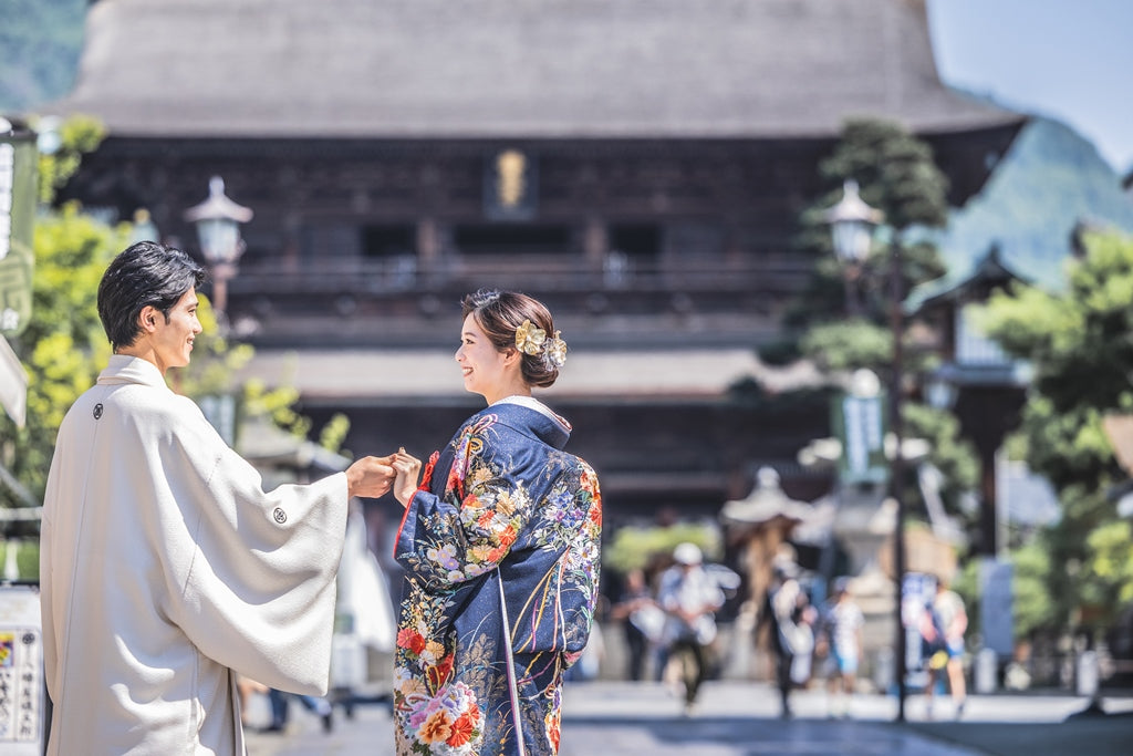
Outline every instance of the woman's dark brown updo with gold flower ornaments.
{"label": "woman's dark brown updo with gold flower ornaments", "polygon": [[543,331],[546,341],[536,354],[519,350],[523,381],[530,387],[545,389],[559,379],[559,366],[565,360],[566,345],[557,338],[551,312],[538,299],[516,291],[480,289],[465,297],[460,306],[462,316],[471,315],[497,351],[517,348],[516,332],[523,329],[525,323]]}

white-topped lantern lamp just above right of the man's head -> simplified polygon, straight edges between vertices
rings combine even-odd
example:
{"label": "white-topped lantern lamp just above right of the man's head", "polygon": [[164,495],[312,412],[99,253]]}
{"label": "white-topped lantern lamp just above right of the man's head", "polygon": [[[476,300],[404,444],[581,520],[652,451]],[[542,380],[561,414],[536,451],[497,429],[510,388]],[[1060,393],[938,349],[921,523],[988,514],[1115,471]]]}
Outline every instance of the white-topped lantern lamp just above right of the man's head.
{"label": "white-topped lantern lamp just above right of the man's head", "polygon": [[208,180],[208,198],[185,211],[185,220],[196,223],[201,253],[213,277],[213,309],[222,331],[228,330],[228,281],[236,275],[236,263],[244,254],[240,223],[252,220],[250,209],[238,205],[224,194],[224,179]]}

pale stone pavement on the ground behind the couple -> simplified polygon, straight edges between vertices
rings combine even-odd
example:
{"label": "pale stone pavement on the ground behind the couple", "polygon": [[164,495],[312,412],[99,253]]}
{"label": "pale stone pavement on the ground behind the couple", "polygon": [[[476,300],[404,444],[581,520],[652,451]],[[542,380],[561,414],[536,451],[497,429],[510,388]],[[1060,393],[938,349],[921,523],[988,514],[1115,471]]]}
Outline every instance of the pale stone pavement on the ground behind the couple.
{"label": "pale stone pavement on the ground behind the couple", "polygon": [[[763,682],[705,683],[700,703],[683,716],[680,699],[661,683],[568,683],[560,756],[1109,756],[1133,753],[1133,698],[1107,699],[1108,715],[1076,715],[1088,702],[1068,695],[972,696],[964,716],[952,720],[947,698],[940,719],[926,719],[925,698],[906,702],[897,724],[896,700],[861,695],[852,719],[827,717],[820,690],[794,694],[795,717],[778,719],[775,691]],[[292,706],[284,734],[248,733],[249,756],[367,756],[393,753],[386,704],[364,704],[353,719],[335,708],[335,728],[323,733],[317,717]],[[256,707],[250,710],[256,714]],[[947,717],[947,719],[945,719]],[[255,719],[255,717],[254,717]],[[533,755],[534,756],[534,755]]]}

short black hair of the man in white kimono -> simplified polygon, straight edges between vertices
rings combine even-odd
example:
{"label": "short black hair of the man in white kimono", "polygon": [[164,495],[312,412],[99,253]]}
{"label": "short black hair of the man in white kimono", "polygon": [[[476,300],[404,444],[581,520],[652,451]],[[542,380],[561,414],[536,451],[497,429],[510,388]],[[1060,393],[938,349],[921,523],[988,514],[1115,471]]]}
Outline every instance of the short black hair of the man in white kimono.
{"label": "short black hair of the man in white kimono", "polygon": [[99,318],[114,349],[128,347],[140,332],[138,315],[152,306],[169,313],[205,271],[187,254],[156,241],[138,241],[119,253],[99,283]]}

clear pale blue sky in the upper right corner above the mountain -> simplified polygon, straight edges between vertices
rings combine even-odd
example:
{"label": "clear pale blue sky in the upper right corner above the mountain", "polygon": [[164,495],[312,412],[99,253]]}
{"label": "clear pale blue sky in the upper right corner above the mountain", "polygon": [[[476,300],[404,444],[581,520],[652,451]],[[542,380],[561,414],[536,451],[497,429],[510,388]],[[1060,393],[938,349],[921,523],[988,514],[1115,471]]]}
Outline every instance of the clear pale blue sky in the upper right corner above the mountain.
{"label": "clear pale blue sky in the upper right corner above the mountain", "polygon": [[1056,118],[1133,170],[1133,1],[928,0],[945,83]]}

